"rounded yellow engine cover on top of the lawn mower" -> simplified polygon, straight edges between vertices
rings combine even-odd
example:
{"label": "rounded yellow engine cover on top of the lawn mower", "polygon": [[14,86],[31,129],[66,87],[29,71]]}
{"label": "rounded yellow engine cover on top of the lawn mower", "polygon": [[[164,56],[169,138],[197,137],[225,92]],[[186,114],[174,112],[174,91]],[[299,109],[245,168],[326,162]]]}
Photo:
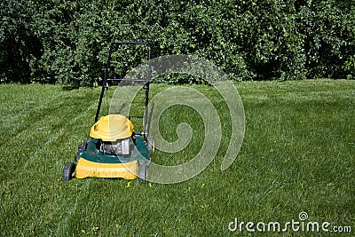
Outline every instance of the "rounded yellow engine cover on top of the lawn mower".
{"label": "rounded yellow engine cover on top of the lawn mower", "polygon": [[103,141],[130,138],[133,133],[133,124],[124,115],[106,115],[99,118],[90,130],[91,138]]}

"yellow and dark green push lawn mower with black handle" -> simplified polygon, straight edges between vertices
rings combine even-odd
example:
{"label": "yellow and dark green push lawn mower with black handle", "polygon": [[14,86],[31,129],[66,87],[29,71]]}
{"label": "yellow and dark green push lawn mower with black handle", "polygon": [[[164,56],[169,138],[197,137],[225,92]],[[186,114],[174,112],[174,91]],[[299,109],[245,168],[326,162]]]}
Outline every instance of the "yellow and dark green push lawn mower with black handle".
{"label": "yellow and dark green push lawn mower with black handle", "polygon": [[[110,73],[110,61],[114,48],[120,44],[142,45],[148,47],[148,68],[146,78],[112,78]],[[149,81],[151,78],[150,59],[153,50],[149,42],[122,42],[115,41],[111,44],[105,67],[105,77],[102,82],[99,97],[99,106],[92,125],[90,135],[86,141],[79,145],[75,162],[67,162],[64,166],[62,180],[67,182],[71,178],[139,178],[146,180],[146,170],[150,163],[150,155],[154,152],[154,138],[148,136],[148,101]],[[134,81],[143,83],[145,91],[144,129],[135,131],[130,121],[130,115],[109,114],[100,115],[100,107],[109,83]],[[108,102],[107,102],[108,103]]]}

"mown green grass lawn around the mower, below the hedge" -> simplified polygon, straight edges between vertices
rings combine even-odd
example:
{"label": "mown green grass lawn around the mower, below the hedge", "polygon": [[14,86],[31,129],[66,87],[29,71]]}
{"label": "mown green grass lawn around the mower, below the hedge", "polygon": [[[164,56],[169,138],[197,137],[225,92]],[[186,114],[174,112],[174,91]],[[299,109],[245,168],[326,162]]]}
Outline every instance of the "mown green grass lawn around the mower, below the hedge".
{"label": "mown green grass lawn around the mower, below the hedge", "polygon": [[[351,226],[355,232],[355,81],[236,83],[246,132],[233,165],[220,170],[231,121],[209,86],[189,86],[218,107],[223,141],[216,159],[195,178],[174,185],[138,180],[61,182],[95,117],[99,88],[64,91],[55,85],[0,85],[0,230],[3,236],[295,236],[231,232],[239,222],[305,221]],[[152,85],[152,91],[170,86]],[[154,162],[187,162],[203,143],[201,118],[191,108],[164,112],[161,132],[173,141],[180,122],[193,128],[177,154],[157,151]],[[203,125],[203,123],[202,123]],[[256,228],[256,226],[254,226]],[[343,233],[342,236],[351,236]],[[308,233],[310,234],[310,233]],[[311,235],[325,233],[311,233]],[[332,236],[335,233],[327,233]]]}

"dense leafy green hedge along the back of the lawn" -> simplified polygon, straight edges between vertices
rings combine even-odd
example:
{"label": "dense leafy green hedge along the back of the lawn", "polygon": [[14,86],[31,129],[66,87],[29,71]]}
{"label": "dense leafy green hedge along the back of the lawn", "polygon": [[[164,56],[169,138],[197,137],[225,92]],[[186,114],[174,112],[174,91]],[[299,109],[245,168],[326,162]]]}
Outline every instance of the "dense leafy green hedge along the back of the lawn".
{"label": "dense leafy green hedge along the back of the lawn", "polygon": [[[235,81],[355,77],[352,1],[8,0],[0,12],[2,82],[91,85],[109,43],[139,39],[154,56],[209,59]],[[124,48],[117,59],[124,75],[146,56]]]}

